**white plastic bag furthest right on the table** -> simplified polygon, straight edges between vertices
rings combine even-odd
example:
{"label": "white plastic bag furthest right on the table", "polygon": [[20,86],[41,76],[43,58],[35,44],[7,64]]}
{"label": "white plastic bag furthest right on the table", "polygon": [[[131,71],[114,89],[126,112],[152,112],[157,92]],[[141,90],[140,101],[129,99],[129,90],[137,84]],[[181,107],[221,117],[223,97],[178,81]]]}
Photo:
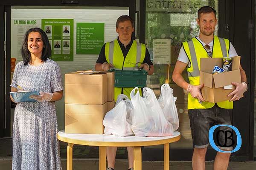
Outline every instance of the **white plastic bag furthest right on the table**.
{"label": "white plastic bag furthest right on the table", "polygon": [[173,90],[169,84],[163,84],[161,86],[161,94],[158,98],[161,108],[163,109],[166,120],[169,121],[174,130],[179,128],[179,117],[175,102],[177,97],[172,95]]}

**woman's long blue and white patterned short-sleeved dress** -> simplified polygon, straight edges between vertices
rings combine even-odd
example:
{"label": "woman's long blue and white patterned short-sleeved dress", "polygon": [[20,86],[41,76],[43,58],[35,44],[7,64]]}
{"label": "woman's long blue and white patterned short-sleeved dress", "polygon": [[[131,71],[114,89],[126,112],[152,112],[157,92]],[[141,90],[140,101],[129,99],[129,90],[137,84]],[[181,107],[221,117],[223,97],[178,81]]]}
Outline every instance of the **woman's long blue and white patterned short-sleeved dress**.
{"label": "woman's long blue and white patterned short-sleeved dress", "polygon": [[[42,65],[18,62],[11,86],[25,91],[62,91],[61,71],[51,59]],[[55,102],[20,102],[13,122],[12,170],[61,170]]]}

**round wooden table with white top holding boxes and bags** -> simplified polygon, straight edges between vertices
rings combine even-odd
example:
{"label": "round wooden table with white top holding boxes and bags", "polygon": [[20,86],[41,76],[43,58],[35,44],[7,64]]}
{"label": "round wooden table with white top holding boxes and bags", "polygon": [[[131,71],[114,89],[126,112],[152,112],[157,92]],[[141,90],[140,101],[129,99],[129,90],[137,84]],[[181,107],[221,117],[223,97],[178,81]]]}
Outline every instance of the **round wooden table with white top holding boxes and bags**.
{"label": "round wooden table with white top holding boxes and bags", "polygon": [[133,147],[134,170],[141,170],[141,147],[152,145],[164,145],[164,170],[169,170],[169,143],[180,140],[180,132],[175,131],[173,136],[140,137],[140,136],[112,136],[97,134],[76,134],[58,132],[60,141],[67,142],[67,170],[72,170],[73,145],[99,146],[99,170],[106,169],[106,147]]}

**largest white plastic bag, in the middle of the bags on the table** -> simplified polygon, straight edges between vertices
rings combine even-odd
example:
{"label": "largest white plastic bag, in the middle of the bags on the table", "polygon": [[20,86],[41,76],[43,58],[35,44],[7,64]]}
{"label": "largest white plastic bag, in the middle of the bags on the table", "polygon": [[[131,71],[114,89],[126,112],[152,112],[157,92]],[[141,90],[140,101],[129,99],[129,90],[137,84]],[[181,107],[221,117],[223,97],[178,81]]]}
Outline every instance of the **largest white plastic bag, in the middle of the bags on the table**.
{"label": "largest white plastic bag, in the middle of the bags on the table", "polygon": [[134,88],[130,94],[134,106],[131,128],[135,136],[172,136],[172,124],[166,120],[154,92],[150,88],[143,88],[143,92],[141,97],[138,88]]}

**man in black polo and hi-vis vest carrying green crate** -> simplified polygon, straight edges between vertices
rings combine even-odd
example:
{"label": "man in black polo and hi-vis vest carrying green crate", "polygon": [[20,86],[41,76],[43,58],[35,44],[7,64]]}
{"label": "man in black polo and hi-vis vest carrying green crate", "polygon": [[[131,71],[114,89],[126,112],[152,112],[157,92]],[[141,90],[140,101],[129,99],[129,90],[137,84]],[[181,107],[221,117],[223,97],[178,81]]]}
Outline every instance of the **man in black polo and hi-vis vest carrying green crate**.
{"label": "man in black polo and hi-vis vest carrying green crate", "polygon": [[[103,45],[99,58],[95,65],[96,71],[108,71],[111,67],[118,70],[134,70],[143,68],[148,74],[154,73],[153,63],[145,44],[132,40],[134,31],[133,20],[128,15],[122,15],[116,21],[116,32],[118,38]],[[119,94],[125,94],[130,98],[133,88],[115,88],[115,99]],[[140,91],[141,93],[141,91]],[[108,160],[107,170],[115,167],[117,147],[107,147],[106,154]],[[133,170],[133,149],[127,147],[129,170]]]}

